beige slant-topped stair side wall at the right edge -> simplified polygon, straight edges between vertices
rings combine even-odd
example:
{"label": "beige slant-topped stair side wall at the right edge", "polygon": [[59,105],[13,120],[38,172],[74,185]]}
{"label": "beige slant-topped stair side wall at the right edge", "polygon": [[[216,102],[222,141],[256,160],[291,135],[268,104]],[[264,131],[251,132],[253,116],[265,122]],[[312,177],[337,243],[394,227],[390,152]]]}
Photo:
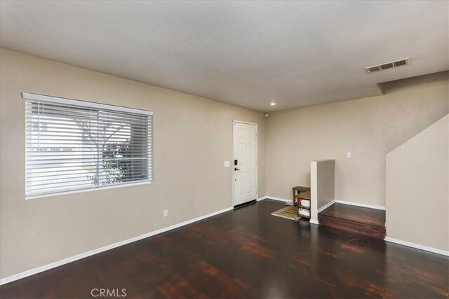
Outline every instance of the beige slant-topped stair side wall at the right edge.
{"label": "beige slant-topped stair side wall at the right edge", "polygon": [[387,155],[387,237],[449,251],[449,116]]}

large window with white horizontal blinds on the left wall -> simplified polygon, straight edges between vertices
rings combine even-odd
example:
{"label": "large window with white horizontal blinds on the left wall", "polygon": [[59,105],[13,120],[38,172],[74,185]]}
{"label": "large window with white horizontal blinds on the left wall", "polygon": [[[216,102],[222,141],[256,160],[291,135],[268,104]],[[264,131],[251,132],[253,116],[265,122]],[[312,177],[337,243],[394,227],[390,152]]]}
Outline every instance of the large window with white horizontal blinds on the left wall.
{"label": "large window with white horizontal blinds on the left wall", "polygon": [[27,197],[153,180],[152,111],[22,97]]}

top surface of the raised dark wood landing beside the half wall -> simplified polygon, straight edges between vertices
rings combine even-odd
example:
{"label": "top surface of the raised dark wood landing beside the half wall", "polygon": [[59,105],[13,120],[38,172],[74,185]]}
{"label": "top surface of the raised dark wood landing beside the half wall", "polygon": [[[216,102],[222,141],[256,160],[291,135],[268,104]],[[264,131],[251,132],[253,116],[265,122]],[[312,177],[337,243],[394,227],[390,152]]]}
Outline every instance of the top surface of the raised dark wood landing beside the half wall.
{"label": "top surface of the raised dark wood landing beside the half wall", "polygon": [[368,209],[351,206],[349,204],[335,203],[319,214],[358,223],[376,225],[382,228],[385,226],[385,211],[380,209]]}

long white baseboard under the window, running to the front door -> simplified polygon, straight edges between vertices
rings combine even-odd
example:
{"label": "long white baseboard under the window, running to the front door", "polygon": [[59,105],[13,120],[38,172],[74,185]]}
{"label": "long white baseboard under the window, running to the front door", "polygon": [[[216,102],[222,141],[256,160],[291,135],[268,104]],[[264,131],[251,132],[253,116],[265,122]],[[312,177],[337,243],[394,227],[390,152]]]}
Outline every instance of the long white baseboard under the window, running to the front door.
{"label": "long white baseboard under the window, running to the front door", "polygon": [[140,236],[137,236],[137,237],[132,237],[130,239],[126,239],[126,240],[123,240],[123,241],[120,241],[120,242],[116,242],[114,244],[103,246],[103,247],[100,247],[98,249],[93,249],[91,251],[87,251],[87,252],[84,252],[84,253],[77,254],[76,256],[71,256],[69,258],[64,258],[63,260],[58,260],[58,261],[55,261],[53,263],[49,263],[47,265],[43,265],[41,267],[36,267],[34,269],[31,269],[31,270],[20,272],[18,274],[14,274],[14,275],[11,275],[9,277],[5,277],[3,279],[0,279],[0,286],[2,284],[8,284],[8,282],[12,282],[12,281],[16,281],[18,279],[29,277],[31,275],[34,275],[34,274],[37,274],[37,273],[40,273],[40,272],[43,272],[43,271],[46,271],[46,270],[53,269],[55,267],[59,267],[59,266],[65,265],[67,263],[72,263],[75,260],[81,260],[81,258],[87,258],[88,256],[93,256],[94,254],[97,254],[97,253],[100,253],[100,252],[103,252],[103,251],[107,251],[107,250],[114,249],[114,248],[119,247],[119,246],[130,244],[130,243],[139,241],[141,239],[145,239],[147,237],[152,237],[154,235],[159,235],[162,232],[167,232],[168,230],[174,230],[175,228],[180,228],[181,226],[184,226],[184,225],[187,225],[187,224],[190,224],[190,223],[194,223],[196,221],[200,221],[200,220],[203,220],[203,219],[206,219],[206,218],[218,215],[218,214],[225,213],[226,211],[232,211],[232,209],[234,209],[234,207],[229,207],[229,208],[226,208],[226,209],[222,209],[220,211],[215,211],[213,213],[210,213],[210,214],[207,214],[207,215],[203,215],[203,216],[199,216],[199,217],[196,217],[196,218],[191,219],[191,220],[187,220],[187,221],[184,221],[184,222],[181,222],[181,223],[170,225],[170,226],[168,226],[166,228],[161,228],[159,230],[154,230],[153,232],[148,232],[148,233],[146,233],[144,235],[140,235]]}

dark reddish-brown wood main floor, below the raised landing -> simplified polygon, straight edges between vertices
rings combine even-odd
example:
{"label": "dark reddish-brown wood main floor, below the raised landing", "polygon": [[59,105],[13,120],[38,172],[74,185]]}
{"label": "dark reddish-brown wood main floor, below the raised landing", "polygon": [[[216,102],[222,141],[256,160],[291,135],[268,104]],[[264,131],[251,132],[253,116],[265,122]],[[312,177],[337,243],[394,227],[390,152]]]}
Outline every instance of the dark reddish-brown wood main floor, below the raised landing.
{"label": "dark reddish-brown wood main floor, below the raised landing", "polygon": [[263,200],[0,287],[1,298],[448,298],[449,258],[270,216]]}

